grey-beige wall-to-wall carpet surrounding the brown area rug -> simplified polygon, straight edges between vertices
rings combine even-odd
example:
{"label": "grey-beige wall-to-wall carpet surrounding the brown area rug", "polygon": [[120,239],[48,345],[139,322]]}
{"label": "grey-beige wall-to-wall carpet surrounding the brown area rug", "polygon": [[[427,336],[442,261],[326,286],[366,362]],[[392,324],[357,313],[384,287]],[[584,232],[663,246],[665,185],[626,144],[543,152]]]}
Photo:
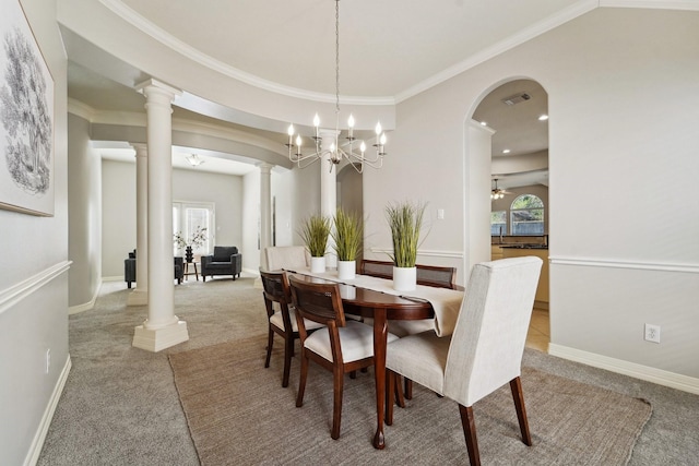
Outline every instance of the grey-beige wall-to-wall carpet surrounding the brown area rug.
{"label": "grey-beige wall-to-wall carpet surrounding the brown area rug", "polygon": [[[126,284],[104,284],[93,310],[70,316],[73,366],[38,464],[198,465],[168,355],[263,335],[262,294],[252,283],[244,274],[176,286],[176,314],[187,321],[190,339],[158,354],[131,346],[145,308],[126,306]],[[648,399],[653,414],[629,465],[699,464],[699,396],[536,350],[525,350],[523,365]]]}

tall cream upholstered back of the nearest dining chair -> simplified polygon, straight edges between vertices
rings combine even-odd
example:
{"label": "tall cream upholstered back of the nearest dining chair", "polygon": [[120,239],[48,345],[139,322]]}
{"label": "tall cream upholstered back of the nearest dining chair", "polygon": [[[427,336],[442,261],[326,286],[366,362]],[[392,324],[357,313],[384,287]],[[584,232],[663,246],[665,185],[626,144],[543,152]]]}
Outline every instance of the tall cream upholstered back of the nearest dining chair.
{"label": "tall cream upholstered back of the nearest dining chair", "polygon": [[451,336],[445,395],[463,406],[520,375],[542,260],[474,265]]}

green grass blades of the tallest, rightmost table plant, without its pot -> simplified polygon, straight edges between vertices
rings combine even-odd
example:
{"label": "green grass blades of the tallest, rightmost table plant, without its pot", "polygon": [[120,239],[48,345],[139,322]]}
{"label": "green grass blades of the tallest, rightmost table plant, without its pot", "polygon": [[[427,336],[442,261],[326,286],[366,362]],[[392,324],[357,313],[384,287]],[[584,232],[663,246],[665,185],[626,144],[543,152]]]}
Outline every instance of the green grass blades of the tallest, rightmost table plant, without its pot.
{"label": "green grass blades of the tallest, rightmost table plant, without its pot", "polygon": [[425,207],[426,204],[407,201],[386,207],[386,217],[393,240],[393,254],[389,255],[396,267],[414,267],[417,262]]}

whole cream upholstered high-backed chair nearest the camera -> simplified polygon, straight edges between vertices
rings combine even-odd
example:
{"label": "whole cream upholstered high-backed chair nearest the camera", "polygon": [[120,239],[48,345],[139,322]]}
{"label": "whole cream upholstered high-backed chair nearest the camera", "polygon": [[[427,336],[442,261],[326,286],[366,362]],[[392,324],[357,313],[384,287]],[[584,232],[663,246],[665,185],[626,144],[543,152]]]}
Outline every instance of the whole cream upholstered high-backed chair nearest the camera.
{"label": "whole cream upholstered high-backed chair nearest the camera", "polygon": [[459,403],[469,458],[477,465],[472,406],[509,383],[522,441],[532,444],[520,372],[541,267],[542,260],[533,256],[476,264],[451,338],[424,332],[389,343],[388,425],[401,374]]}

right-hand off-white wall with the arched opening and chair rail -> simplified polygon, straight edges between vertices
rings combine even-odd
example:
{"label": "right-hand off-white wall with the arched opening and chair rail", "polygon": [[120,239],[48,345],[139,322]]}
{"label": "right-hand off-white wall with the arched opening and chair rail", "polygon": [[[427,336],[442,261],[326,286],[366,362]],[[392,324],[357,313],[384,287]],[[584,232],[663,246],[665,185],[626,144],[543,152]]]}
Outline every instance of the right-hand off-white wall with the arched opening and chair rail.
{"label": "right-hand off-white wall with the arched opening and chair rail", "polygon": [[[699,177],[697,57],[697,12],[592,11],[402,103],[386,168],[365,174],[365,208],[380,218],[384,193],[445,206],[424,247],[458,250],[463,122],[499,84],[540,82],[552,351],[699,391],[699,203],[676,202]],[[660,345],[643,340],[645,322],[662,326]]]}

